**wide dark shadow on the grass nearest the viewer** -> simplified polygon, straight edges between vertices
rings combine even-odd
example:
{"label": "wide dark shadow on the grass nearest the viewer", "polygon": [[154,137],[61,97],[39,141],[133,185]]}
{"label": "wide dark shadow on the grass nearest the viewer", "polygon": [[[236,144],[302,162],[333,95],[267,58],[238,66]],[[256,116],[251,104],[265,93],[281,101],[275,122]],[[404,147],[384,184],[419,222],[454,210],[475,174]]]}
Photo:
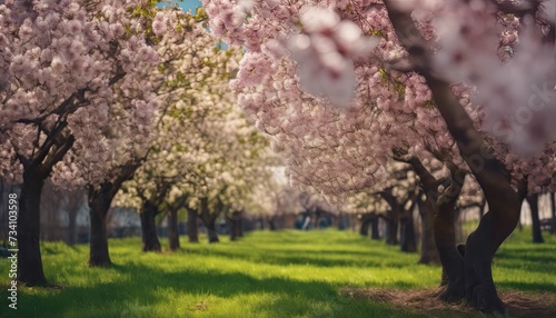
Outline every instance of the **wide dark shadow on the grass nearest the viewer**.
{"label": "wide dark shadow on the grass nearest the viewer", "polygon": [[[400,315],[399,310],[396,312],[389,306],[377,307],[377,304],[368,301],[345,299],[338,295],[337,287],[321,281],[276,277],[257,279],[240,272],[222,274],[202,269],[163,272],[137,264],[115,265],[108,270],[126,275],[127,279],[49,292],[28,289],[20,295],[17,317],[152,317],[153,306],[160,304],[171,308],[185,307],[181,310],[192,315],[195,310],[190,308],[191,304],[172,304],[170,294],[188,295],[190,299],[274,295],[272,301],[254,306],[255,310],[261,310],[268,317],[341,317],[341,314],[334,312],[342,311],[347,306],[358,306],[361,312],[370,316],[377,310],[380,311],[378,317]],[[130,308],[133,309],[132,314],[129,314]]]}

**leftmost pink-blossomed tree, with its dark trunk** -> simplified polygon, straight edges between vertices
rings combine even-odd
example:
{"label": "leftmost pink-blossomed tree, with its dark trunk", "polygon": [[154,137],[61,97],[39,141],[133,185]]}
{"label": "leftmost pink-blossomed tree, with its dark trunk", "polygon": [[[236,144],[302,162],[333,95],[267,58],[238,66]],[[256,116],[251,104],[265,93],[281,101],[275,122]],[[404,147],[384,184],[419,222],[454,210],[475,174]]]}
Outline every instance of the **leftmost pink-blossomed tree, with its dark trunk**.
{"label": "leftmost pink-blossomed tree, with its dark trunk", "polygon": [[[18,279],[29,285],[46,284],[39,248],[43,181],[54,170],[61,179],[82,182],[76,167],[62,167],[69,151],[91,162],[109,156],[111,145],[102,128],[109,123],[113,87],[158,61],[146,41],[145,19],[132,13],[143,6],[153,3],[0,4],[1,170],[6,178],[23,183]],[[155,107],[149,89],[132,101],[130,110],[142,115],[137,121],[142,126]]]}

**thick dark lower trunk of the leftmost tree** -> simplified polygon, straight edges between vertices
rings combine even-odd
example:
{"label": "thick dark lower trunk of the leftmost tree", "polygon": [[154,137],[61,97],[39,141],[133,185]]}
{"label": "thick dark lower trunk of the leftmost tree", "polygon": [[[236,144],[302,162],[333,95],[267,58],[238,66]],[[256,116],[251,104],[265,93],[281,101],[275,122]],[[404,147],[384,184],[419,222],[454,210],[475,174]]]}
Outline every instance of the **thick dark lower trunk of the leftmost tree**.
{"label": "thick dark lower trunk of the leftmost tree", "polygon": [[44,178],[39,171],[28,169],[23,173],[18,216],[18,280],[28,286],[47,284],[39,245],[40,197],[43,183]]}

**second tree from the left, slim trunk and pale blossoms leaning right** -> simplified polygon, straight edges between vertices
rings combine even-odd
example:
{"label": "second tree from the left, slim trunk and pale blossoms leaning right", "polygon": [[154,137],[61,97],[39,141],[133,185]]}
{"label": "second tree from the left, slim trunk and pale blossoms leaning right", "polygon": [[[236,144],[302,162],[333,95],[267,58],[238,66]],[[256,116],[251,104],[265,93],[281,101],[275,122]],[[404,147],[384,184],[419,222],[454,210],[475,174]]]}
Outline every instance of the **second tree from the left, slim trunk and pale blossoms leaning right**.
{"label": "second tree from the left, slim trunk and pale blossoms leaning right", "polygon": [[[149,23],[147,31],[152,48],[160,57],[158,64],[137,72],[132,83],[118,87],[118,99],[113,107],[113,122],[110,126],[110,140],[118,145],[109,160],[97,166],[85,162],[81,169],[88,171],[109,171],[102,181],[89,178],[89,203],[91,206],[91,266],[109,266],[108,241],[106,236],[106,216],[110,203],[121,185],[133,178],[135,172],[145,162],[152,150],[152,142],[175,138],[167,136],[165,118],[176,117],[185,109],[182,99],[195,101],[192,92],[203,86],[218,85],[227,80],[229,72],[237,66],[237,58],[229,52],[216,50],[217,39],[202,27],[202,17],[185,13],[180,10],[160,10],[155,7],[143,8],[138,13],[145,16]],[[140,83],[140,85],[138,85]],[[146,87],[157,98],[155,115],[127,111],[132,102],[130,92]],[[200,98],[200,96],[196,96]],[[151,131],[146,135],[142,126],[133,125],[133,119],[151,118]],[[183,120],[199,120],[185,118]],[[180,122],[179,125],[183,125]],[[181,137],[185,139],[185,137]],[[163,196],[160,198],[160,200]],[[157,206],[150,203],[150,206]],[[147,209],[155,212],[152,208]],[[145,215],[148,216],[149,213]],[[148,222],[150,223],[150,222]],[[146,223],[147,225],[147,223]],[[156,242],[156,240],[152,240]],[[157,246],[155,244],[155,246]],[[156,249],[156,248],[155,248]]]}

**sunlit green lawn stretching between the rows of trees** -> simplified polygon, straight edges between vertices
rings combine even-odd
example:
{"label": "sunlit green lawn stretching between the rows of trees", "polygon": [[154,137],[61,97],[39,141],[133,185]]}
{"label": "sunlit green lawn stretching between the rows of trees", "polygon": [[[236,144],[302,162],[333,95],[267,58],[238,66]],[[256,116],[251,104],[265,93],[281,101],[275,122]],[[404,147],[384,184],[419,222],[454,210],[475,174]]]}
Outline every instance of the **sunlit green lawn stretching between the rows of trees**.
{"label": "sunlit green lawn stretching between the rows of trees", "polygon": [[[528,231],[517,232],[500,248],[494,265],[500,290],[556,295],[556,237],[546,238],[532,245]],[[426,317],[339,290],[433,289],[440,276],[438,267],[417,265],[416,254],[350,231],[259,231],[237,242],[181,245],[177,252],[143,254],[139,238],[110,240],[115,266],[91,269],[88,246],[44,244],[44,271],[56,287],[21,287],[17,311],[2,296],[0,316]],[[7,266],[0,259],[0,295]]]}

